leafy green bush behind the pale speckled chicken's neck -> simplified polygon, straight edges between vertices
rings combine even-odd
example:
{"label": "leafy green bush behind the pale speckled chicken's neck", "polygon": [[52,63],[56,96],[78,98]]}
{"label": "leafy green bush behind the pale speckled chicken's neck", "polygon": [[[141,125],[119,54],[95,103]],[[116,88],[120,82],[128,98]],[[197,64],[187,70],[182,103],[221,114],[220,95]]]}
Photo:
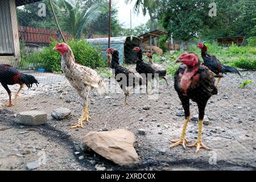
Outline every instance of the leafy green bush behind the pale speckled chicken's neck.
{"label": "leafy green bush behind the pale speckled chicken's neck", "polygon": [[[43,67],[49,72],[60,72],[61,55],[53,50],[56,44],[57,42],[51,42],[49,47],[43,47],[41,52],[31,52],[22,59],[21,67],[23,69]],[[86,40],[69,41],[67,44],[72,48],[77,63],[93,69],[106,67],[107,63],[101,55],[100,48],[93,47]]]}

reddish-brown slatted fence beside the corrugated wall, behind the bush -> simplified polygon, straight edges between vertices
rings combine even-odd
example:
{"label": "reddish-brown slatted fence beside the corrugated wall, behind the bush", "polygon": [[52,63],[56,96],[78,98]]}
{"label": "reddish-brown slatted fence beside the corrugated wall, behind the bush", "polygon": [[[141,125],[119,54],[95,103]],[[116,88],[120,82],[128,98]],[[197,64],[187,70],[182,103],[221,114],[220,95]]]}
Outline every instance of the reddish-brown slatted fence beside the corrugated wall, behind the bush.
{"label": "reddish-brown slatted fence beside the corrugated wall, behind the bush", "polygon": [[[49,44],[52,40],[61,40],[56,30],[18,26],[19,40],[25,43]],[[63,32],[66,40],[72,40],[68,32]]]}

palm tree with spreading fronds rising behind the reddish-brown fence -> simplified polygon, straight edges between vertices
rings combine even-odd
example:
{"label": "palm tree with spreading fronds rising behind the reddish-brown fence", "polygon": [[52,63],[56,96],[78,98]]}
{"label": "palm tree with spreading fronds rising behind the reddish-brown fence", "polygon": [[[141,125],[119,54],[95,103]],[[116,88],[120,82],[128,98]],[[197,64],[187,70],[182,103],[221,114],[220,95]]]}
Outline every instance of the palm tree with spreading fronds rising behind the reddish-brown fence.
{"label": "palm tree with spreading fronds rising behind the reddish-brown fence", "polygon": [[59,0],[55,5],[61,28],[70,32],[75,39],[80,39],[86,28],[108,11],[105,3],[96,3],[86,8],[82,0]]}

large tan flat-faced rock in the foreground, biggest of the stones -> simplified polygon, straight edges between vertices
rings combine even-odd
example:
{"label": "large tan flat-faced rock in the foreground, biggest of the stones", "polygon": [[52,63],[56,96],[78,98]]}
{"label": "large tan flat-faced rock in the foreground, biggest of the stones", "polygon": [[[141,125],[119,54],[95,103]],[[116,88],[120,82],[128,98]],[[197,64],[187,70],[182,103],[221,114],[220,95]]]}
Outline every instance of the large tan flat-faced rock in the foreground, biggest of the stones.
{"label": "large tan flat-faced rock in the foreground, biggest of the stones", "polygon": [[92,131],[82,138],[82,143],[94,152],[120,166],[138,164],[138,154],[134,148],[135,136],[131,131]]}

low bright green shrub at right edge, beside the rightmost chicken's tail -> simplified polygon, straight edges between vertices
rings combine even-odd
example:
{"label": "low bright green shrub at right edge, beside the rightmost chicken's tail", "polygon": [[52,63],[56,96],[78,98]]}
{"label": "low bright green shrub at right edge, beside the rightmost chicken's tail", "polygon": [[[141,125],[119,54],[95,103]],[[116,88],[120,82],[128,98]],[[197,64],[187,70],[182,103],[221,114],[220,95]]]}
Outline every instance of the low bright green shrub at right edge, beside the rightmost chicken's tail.
{"label": "low bright green shrub at right edge, beside the rightmost chicken's tail", "polygon": [[250,59],[249,57],[242,56],[239,59],[230,62],[230,65],[236,68],[246,69],[246,70],[256,70],[256,59]]}

